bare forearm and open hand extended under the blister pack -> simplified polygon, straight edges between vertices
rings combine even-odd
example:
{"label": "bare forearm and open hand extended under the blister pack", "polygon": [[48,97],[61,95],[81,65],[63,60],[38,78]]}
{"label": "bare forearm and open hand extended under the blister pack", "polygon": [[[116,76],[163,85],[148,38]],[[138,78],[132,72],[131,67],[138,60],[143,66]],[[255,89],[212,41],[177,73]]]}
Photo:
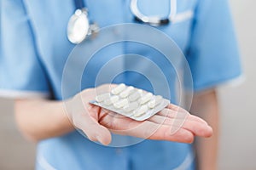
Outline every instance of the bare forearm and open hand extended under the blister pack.
{"label": "bare forearm and open hand extended under the blister pack", "polygon": [[15,117],[20,132],[37,142],[70,133],[78,127],[90,140],[106,145],[111,142],[110,132],[183,143],[192,143],[195,136],[212,136],[212,127],[207,122],[177,105],[170,104],[148,120],[137,122],[88,103],[95,99],[96,92],[109,90],[109,87],[107,84],[88,88],[65,101],[17,99]]}

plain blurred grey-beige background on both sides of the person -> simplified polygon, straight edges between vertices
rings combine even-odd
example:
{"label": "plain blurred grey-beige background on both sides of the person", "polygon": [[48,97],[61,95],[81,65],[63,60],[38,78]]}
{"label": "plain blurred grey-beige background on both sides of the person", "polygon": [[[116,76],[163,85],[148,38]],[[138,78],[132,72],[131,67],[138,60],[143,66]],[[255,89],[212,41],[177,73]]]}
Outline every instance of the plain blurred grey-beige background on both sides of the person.
{"label": "plain blurred grey-beige background on both sides of the person", "polygon": [[[246,80],[218,89],[221,127],[220,170],[256,169],[256,1],[230,0]],[[254,20],[254,22],[253,22]],[[26,142],[15,125],[13,101],[0,99],[0,169],[33,169],[36,145]]]}

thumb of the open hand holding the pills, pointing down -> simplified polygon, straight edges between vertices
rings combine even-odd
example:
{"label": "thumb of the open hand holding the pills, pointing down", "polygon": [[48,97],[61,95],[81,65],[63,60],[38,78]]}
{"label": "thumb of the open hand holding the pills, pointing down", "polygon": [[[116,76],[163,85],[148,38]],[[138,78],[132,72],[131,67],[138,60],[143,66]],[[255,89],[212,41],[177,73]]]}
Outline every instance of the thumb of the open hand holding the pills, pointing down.
{"label": "thumb of the open hand holding the pills, pointing down", "polygon": [[86,114],[76,116],[74,125],[81,129],[90,140],[98,140],[100,143],[106,145],[111,142],[111,133],[108,128],[103,127],[94,118]]}

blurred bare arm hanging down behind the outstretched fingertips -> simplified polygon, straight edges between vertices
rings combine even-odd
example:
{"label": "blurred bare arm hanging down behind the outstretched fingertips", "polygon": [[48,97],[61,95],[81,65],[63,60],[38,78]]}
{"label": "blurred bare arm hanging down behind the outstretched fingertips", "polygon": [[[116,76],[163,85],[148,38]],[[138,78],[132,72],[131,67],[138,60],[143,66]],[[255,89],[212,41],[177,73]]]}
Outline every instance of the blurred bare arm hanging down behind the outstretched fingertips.
{"label": "blurred bare arm hanging down behind the outstretched fingertips", "polygon": [[216,170],[218,156],[218,102],[215,90],[205,94],[196,94],[191,113],[200,116],[213,129],[210,139],[195,139],[195,148],[200,170]]}

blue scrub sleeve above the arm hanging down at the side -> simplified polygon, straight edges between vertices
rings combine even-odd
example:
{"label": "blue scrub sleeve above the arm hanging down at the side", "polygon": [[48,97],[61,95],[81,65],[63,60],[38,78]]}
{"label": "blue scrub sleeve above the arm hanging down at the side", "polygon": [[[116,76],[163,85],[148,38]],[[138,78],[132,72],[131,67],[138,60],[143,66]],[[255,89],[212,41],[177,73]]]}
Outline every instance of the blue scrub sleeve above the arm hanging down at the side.
{"label": "blue scrub sleeve above the arm hanging down at the side", "polygon": [[186,54],[195,92],[241,75],[239,51],[227,0],[200,1]]}

